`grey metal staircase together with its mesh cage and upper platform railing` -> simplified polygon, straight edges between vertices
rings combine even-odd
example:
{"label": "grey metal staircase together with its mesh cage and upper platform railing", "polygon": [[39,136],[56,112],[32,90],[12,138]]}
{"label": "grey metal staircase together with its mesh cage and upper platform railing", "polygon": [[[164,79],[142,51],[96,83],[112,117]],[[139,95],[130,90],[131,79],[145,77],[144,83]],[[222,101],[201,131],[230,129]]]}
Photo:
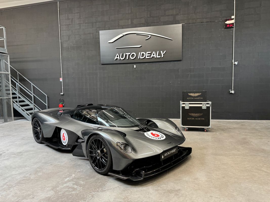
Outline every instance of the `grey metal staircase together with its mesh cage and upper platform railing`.
{"label": "grey metal staircase together with its mesh cage and upper platform railing", "polygon": [[32,113],[48,109],[48,96],[9,64],[5,27],[0,30],[0,123],[13,121],[11,99],[13,108],[31,121]]}

